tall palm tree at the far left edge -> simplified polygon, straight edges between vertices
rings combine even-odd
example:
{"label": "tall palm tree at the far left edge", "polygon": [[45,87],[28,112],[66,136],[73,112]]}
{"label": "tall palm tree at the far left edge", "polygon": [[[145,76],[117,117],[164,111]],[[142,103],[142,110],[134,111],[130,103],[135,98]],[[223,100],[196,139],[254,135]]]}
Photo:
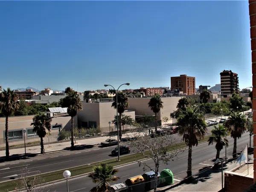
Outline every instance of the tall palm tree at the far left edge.
{"label": "tall palm tree at the far left edge", "polygon": [[7,90],[3,90],[0,93],[0,111],[2,111],[3,115],[6,117],[6,130],[5,130],[5,140],[6,140],[6,159],[9,158],[9,135],[8,135],[8,125],[9,125],[9,116],[12,113],[17,111],[19,108],[18,96],[14,93],[13,90],[7,88]]}

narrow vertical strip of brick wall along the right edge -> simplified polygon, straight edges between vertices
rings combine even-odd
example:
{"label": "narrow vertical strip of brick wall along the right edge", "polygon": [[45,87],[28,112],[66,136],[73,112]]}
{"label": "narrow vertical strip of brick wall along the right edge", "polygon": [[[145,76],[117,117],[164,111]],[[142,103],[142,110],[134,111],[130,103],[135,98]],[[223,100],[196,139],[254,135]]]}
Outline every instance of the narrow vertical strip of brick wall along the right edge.
{"label": "narrow vertical strip of brick wall along the right edge", "polygon": [[253,146],[254,146],[254,183],[256,183],[256,0],[249,0],[250,14],[250,38],[252,50],[252,74],[253,74]]}

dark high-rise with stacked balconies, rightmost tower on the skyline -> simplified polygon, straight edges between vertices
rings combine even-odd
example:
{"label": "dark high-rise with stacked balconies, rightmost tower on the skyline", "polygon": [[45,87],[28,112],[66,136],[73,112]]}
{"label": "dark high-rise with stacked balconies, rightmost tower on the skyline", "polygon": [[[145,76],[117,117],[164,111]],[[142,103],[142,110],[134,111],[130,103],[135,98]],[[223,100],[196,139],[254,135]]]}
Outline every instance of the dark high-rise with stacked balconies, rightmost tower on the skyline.
{"label": "dark high-rise with stacked balconies, rightmost tower on the skyline", "polygon": [[227,97],[233,93],[238,93],[238,75],[231,70],[224,70],[221,75],[221,95]]}

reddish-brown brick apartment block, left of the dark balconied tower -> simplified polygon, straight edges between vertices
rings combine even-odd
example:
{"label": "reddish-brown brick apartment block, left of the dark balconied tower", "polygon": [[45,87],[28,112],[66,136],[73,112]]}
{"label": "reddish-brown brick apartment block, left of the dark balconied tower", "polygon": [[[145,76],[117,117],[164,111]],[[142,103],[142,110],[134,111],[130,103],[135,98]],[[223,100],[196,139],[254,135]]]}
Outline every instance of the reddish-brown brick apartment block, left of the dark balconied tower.
{"label": "reddish-brown brick apartment block, left of the dark balconied tower", "polygon": [[171,77],[171,89],[178,89],[186,93],[186,95],[193,95],[195,93],[195,77],[189,77],[187,75]]}

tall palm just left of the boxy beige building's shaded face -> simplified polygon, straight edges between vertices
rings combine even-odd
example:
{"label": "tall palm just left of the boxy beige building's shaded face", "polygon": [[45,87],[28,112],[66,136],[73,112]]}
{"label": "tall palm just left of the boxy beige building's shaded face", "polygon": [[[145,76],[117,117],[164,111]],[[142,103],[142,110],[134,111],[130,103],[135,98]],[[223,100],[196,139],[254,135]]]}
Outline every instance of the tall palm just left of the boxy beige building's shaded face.
{"label": "tall palm just left of the boxy beige building's shaded face", "polygon": [[74,116],[78,111],[82,110],[81,100],[76,91],[70,91],[67,96],[63,98],[62,107],[67,108],[67,113],[71,116],[71,150],[74,150]]}

